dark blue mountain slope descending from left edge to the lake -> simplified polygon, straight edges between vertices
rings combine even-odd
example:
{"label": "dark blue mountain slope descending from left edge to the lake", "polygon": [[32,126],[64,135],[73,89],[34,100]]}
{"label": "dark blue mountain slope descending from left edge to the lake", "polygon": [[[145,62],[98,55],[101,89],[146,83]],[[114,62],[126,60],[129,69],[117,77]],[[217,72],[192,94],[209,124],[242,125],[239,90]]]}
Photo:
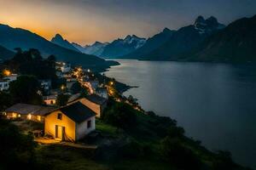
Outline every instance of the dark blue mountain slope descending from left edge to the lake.
{"label": "dark blue mountain slope descending from left edge to the lake", "polygon": [[94,55],[82,54],[72,49],[63,48],[49,42],[44,37],[38,36],[38,34],[21,28],[0,25],[0,37],[0,45],[10,51],[13,51],[14,48],[23,50],[37,48],[44,57],[54,54],[58,60],[68,61],[73,65],[84,65],[88,68],[108,68],[109,65],[116,64]]}

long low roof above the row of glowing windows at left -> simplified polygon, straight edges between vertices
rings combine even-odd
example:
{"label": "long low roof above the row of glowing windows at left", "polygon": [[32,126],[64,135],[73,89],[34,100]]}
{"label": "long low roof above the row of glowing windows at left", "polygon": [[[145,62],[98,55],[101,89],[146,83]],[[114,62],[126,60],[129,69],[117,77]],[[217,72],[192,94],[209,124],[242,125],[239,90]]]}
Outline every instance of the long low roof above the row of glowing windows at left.
{"label": "long low roof above the row of glowing windows at left", "polygon": [[15,112],[22,115],[32,114],[32,115],[42,115],[44,116],[49,111],[55,110],[54,107],[47,107],[42,105],[28,105],[28,104],[15,104],[9,107],[6,112]]}

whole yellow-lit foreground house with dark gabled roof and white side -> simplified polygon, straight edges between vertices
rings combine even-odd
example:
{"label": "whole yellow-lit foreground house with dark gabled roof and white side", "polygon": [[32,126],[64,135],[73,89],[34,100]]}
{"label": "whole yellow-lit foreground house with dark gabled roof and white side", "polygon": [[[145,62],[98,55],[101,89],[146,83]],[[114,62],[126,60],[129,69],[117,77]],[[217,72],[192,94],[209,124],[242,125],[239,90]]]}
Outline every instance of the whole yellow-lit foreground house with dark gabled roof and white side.
{"label": "whole yellow-lit foreground house with dark gabled roof and white side", "polygon": [[45,116],[44,134],[55,139],[76,141],[95,130],[94,111],[80,102],[75,102],[49,112]]}

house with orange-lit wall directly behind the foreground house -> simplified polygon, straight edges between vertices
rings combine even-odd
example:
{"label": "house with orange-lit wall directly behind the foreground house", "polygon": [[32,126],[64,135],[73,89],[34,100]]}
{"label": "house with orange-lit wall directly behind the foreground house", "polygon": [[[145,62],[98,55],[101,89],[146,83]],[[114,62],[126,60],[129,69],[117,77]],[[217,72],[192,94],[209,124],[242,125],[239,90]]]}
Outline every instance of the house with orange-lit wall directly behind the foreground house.
{"label": "house with orange-lit wall directly behind the foreground house", "polygon": [[101,117],[102,112],[107,107],[108,99],[102,98],[96,94],[91,94],[82,99],[77,99],[73,102],[68,103],[68,105],[73,104],[74,102],[80,101],[85,106],[89,107],[90,110],[96,113],[96,117]]}

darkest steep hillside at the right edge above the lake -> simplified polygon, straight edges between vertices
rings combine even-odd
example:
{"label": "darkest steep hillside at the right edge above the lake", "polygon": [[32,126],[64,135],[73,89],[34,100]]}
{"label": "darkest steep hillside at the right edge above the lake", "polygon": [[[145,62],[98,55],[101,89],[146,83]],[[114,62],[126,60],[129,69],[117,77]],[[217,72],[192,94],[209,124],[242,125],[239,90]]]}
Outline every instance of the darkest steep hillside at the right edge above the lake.
{"label": "darkest steep hillside at the right edge above the lake", "polygon": [[[190,56],[190,57],[189,57]],[[185,60],[256,62],[256,15],[232,22],[201,43]]]}

